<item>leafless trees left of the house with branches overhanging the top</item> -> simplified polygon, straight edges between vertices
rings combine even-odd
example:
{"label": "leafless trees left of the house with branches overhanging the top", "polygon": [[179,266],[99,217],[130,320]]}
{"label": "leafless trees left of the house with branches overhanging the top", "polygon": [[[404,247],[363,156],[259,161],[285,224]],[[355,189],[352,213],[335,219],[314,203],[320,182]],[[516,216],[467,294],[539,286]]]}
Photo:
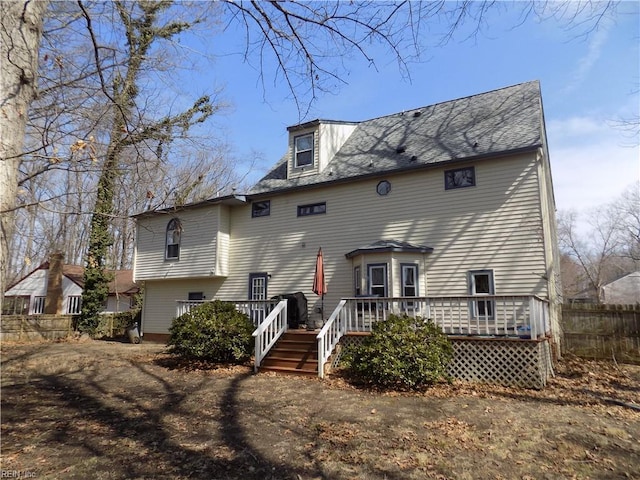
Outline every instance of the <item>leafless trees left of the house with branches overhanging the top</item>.
{"label": "leafless trees left of the house with branches overhanging the top", "polygon": [[[0,3],[0,290],[62,252],[85,266],[87,325],[106,299],[105,270],[131,266],[132,214],[242,186],[212,121],[222,92],[189,98],[176,75],[215,68],[188,35],[238,32],[265,91],[266,76],[286,85],[303,118],[344,83],[345,59],[375,66],[375,45],[410,76],[424,50],[488,29],[489,10],[566,18],[576,35],[615,13],[587,1]],[[435,26],[438,42],[427,45]]]}

